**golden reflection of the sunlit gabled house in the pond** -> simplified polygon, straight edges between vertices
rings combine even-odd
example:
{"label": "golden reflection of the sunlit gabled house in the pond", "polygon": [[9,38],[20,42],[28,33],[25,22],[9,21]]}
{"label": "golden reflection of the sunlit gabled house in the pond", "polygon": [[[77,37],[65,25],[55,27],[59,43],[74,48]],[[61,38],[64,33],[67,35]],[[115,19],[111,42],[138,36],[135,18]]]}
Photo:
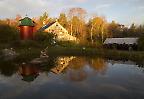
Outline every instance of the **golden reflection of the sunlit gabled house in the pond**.
{"label": "golden reflection of the sunlit gabled house in the pond", "polygon": [[56,74],[59,74],[61,73],[68,65],[69,65],[69,62],[75,57],[59,57],[57,59],[57,66],[52,68],[51,71],[56,73]]}

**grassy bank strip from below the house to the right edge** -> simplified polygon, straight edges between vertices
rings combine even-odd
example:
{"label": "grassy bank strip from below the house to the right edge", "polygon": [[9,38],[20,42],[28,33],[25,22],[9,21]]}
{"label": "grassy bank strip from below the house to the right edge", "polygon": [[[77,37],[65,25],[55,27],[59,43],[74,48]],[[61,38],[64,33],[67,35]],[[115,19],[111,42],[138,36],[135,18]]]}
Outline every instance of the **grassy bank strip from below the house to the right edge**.
{"label": "grassy bank strip from below the house to the right edge", "polygon": [[116,60],[144,61],[144,51],[120,51],[96,48],[49,48],[48,55],[98,56]]}

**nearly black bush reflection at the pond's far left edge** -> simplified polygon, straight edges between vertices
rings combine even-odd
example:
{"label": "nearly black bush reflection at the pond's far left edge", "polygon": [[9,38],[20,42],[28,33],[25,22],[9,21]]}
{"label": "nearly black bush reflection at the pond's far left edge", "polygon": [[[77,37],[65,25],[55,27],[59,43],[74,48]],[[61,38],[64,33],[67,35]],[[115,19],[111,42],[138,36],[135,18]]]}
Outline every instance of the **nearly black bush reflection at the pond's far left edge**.
{"label": "nearly black bush reflection at the pond's far left edge", "polygon": [[17,69],[17,66],[12,62],[0,62],[0,73],[4,76],[12,76]]}

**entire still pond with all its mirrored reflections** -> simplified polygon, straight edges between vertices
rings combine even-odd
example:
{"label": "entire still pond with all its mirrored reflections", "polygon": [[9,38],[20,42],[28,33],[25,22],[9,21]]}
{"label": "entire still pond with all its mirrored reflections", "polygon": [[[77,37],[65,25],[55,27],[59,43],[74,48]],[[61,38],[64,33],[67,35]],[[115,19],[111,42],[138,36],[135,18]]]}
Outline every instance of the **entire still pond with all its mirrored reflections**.
{"label": "entire still pond with all its mirrored reflections", "polygon": [[0,99],[144,99],[144,66],[74,56],[41,65],[2,61]]}

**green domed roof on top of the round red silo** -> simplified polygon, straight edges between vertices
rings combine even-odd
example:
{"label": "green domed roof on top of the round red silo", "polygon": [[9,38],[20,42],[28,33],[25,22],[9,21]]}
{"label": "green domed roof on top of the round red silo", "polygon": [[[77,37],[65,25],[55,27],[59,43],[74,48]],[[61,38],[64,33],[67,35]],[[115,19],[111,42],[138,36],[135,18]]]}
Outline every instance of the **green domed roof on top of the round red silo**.
{"label": "green domed roof on top of the round red silo", "polygon": [[34,26],[35,25],[34,21],[30,19],[29,17],[25,17],[19,21],[20,21],[19,26]]}

